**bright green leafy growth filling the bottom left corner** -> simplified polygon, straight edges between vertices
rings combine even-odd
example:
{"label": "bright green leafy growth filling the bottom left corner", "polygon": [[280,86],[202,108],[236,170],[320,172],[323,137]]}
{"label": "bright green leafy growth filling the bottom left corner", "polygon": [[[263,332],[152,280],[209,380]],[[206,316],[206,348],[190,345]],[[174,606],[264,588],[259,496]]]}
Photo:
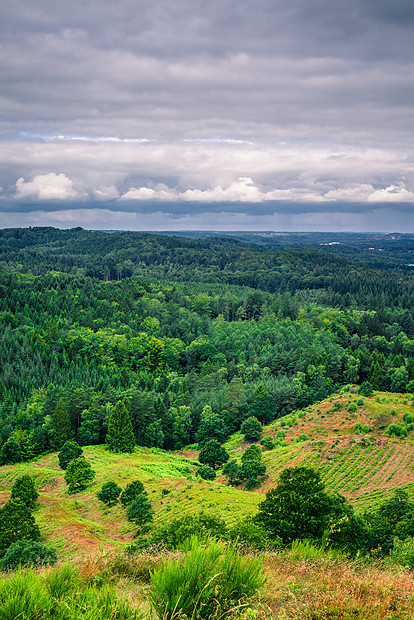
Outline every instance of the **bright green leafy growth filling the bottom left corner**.
{"label": "bright green leafy growth filling the bottom left corner", "polygon": [[17,570],[0,581],[1,620],[142,620],[142,613],[109,585],[97,588],[76,569],[58,566],[47,575]]}

